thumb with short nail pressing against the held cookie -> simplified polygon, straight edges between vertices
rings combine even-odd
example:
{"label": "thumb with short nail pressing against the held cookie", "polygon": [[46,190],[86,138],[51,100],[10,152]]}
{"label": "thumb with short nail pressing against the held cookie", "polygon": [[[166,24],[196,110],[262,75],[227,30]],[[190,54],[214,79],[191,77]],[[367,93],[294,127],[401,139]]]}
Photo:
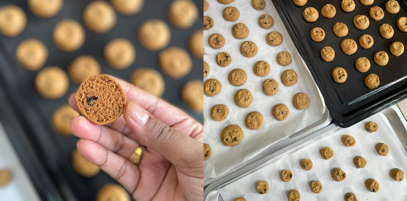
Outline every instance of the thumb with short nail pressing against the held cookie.
{"label": "thumb with short nail pressing against the held cookie", "polygon": [[130,102],[123,116],[140,144],[164,156],[177,168],[195,168],[195,163],[202,160],[202,143],[162,123],[137,103]]}

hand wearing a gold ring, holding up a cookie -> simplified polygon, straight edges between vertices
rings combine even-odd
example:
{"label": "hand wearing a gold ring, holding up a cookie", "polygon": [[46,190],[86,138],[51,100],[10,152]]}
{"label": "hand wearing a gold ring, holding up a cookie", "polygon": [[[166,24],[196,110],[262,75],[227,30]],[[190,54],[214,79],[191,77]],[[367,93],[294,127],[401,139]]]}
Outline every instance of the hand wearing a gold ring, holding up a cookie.
{"label": "hand wearing a gold ring, holding up a cookie", "polygon": [[[79,152],[117,180],[137,201],[203,199],[203,126],[180,109],[123,80],[123,115],[97,125],[83,116],[71,121]],[[75,94],[69,99],[78,111]],[[146,146],[139,166],[127,160]]]}

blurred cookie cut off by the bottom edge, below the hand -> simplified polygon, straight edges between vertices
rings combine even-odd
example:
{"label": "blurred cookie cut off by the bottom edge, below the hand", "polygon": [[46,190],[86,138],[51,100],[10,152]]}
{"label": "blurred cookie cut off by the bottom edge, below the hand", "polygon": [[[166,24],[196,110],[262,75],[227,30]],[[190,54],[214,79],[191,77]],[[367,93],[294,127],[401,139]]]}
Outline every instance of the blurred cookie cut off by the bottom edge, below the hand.
{"label": "blurred cookie cut off by the bottom edge, below the hand", "polygon": [[118,200],[130,201],[130,195],[119,184],[106,184],[96,194],[96,201]]}

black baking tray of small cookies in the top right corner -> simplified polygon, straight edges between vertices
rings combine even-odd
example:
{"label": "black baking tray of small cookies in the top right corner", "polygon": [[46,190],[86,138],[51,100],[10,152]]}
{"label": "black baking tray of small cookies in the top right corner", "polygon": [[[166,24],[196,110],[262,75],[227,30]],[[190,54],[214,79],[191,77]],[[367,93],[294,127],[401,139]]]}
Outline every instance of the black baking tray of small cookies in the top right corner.
{"label": "black baking tray of small cookies in the top right corner", "polygon": [[[373,114],[388,108],[407,97],[407,53],[399,57],[392,55],[389,51],[393,42],[401,42],[405,46],[407,33],[398,29],[396,21],[399,17],[407,14],[407,4],[404,0],[398,0],[401,9],[397,14],[390,14],[385,9],[387,0],[376,0],[370,6],[364,6],[359,0],[354,0],[356,8],[350,13],[341,9],[341,1],[308,1],[303,7],[296,6],[292,0],[272,0],[290,37],[293,39],[299,53],[304,59],[321,90],[325,103],[340,127],[349,127]],[[336,8],[336,15],[333,18],[325,18],[321,14],[321,9],[326,4],[332,4]],[[373,6],[379,6],[385,12],[385,17],[380,21],[375,21],[369,16],[369,10]],[[307,22],[303,18],[303,11],[307,7],[315,8],[319,17],[315,22]],[[353,18],[356,15],[366,15],[370,25],[365,30],[359,30],[353,25]],[[343,22],[347,25],[349,33],[347,36],[336,37],[332,31],[336,22]],[[384,39],[379,33],[379,27],[390,24],[394,29],[394,36],[391,39]],[[314,42],[310,38],[311,29],[321,27],[325,30],[326,36],[322,42]],[[374,45],[369,49],[363,49],[359,45],[359,38],[369,34],[374,39]],[[358,44],[358,50],[352,55],[346,55],[340,49],[340,43],[344,39],[353,39]],[[335,50],[333,61],[325,62],[321,58],[321,49],[330,46]],[[406,47],[407,48],[407,47]],[[378,51],[385,51],[389,55],[389,63],[379,66],[373,61],[373,56]],[[407,50],[406,50],[407,51]],[[358,57],[367,57],[370,61],[370,70],[360,73],[355,68],[355,61]],[[342,67],[347,72],[347,79],[344,83],[335,83],[332,79],[332,70]],[[370,90],[364,85],[364,78],[369,74],[376,74],[380,78],[380,86]]]}

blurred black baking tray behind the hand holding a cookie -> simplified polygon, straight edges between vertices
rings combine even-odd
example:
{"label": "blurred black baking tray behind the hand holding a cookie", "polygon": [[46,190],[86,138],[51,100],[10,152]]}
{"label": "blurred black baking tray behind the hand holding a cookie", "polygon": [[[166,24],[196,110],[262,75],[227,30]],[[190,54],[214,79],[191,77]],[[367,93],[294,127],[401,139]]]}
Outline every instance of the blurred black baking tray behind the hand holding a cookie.
{"label": "blurred black baking tray behind the hand holding a cookie", "polygon": [[[37,38],[44,42],[49,51],[49,57],[45,64],[60,66],[67,70],[69,63],[82,54],[93,55],[99,61],[103,74],[129,80],[131,73],[137,68],[152,68],[159,71],[158,53],[144,50],[137,40],[137,29],[139,25],[150,18],[159,18],[167,22],[171,29],[170,46],[178,46],[188,51],[189,36],[198,29],[202,29],[203,5],[201,0],[193,0],[198,7],[199,17],[195,24],[189,29],[178,29],[172,26],[167,18],[167,10],[172,0],[146,0],[143,10],[135,16],[122,16],[118,14],[117,24],[107,33],[96,34],[85,28],[82,21],[82,13],[86,5],[91,1],[65,0],[63,10],[51,19],[43,19],[34,16],[26,6],[26,0],[3,0],[0,7],[13,4],[21,7],[27,15],[27,26],[20,36],[6,38],[0,36],[0,101],[10,103],[9,110],[1,110],[0,120],[11,121],[9,115],[16,117],[15,125],[21,127],[20,131],[26,137],[26,143],[33,147],[33,157],[22,157],[22,163],[33,180],[37,191],[42,199],[46,200],[94,200],[95,194],[101,186],[114,182],[107,174],[101,172],[92,178],[83,178],[76,174],[71,166],[71,152],[76,147],[78,138],[63,137],[55,133],[50,125],[53,111],[68,104],[68,97],[76,92],[77,84],[70,83],[67,94],[55,101],[50,101],[39,96],[34,88],[34,79],[38,72],[29,72],[21,68],[14,57],[17,45],[27,38]],[[86,40],[83,47],[73,53],[62,52],[52,43],[52,30],[57,22],[65,18],[77,20],[85,28]],[[109,68],[103,59],[103,47],[115,38],[126,38],[130,40],[136,49],[136,61],[126,70],[114,70]],[[188,51],[189,52],[189,51]],[[191,54],[190,54],[191,55]],[[191,55],[193,68],[188,76],[182,79],[171,79],[165,75],[166,84],[163,99],[180,107],[200,122],[203,115],[190,112],[183,104],[180,93],[182,86],[189,80],[202,79],[202,60]],[[2,103],[2,102],[0,102]],[[2,108],[3,109],[3,108]],[[4,112],[4,113],[3,113]],[[12,113],[12,114],[11,114]],[[13,119],[14,120],[14,119]],[[8,124],[8,123],[7,123]],[[6,130],[10,126],[5,126]],[[13,135],[8,129],[8,134]],[[22,152],[19,141],[13,140],[17,152]],[[30,151],[28,151],[30,152]],[[37,156],[37,157],[34,157]],[[21,157],[21,155],[19,154]],[[38,160],[37,160],[38,159]],[[31,171],[33,163],[43,167],[45,171]],[[53,189],[45,186],[43,181],[36,182],[38,177],[49,178]],[[38,185],[36,184],[38,183]],[[57,194],[53,196],[53,194]],[[51,196],[52,195],[52,196]],[[56,197],[56,198],[55,198]]]}

